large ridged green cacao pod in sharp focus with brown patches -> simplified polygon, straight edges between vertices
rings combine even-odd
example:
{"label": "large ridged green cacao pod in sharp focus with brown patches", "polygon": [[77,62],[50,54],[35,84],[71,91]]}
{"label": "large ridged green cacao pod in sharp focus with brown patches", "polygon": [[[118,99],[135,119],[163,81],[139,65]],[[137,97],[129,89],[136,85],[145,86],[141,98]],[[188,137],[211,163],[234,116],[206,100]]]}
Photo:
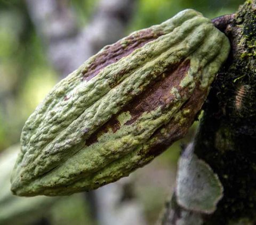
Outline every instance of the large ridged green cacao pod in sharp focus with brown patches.
{"label": "large ridged green cacao pod in sharp focus with brown patches", "polygon": [[95,189],[153,160],[187,133],[229,48],[194,10],[103,48],[29,117],[13,193]]}

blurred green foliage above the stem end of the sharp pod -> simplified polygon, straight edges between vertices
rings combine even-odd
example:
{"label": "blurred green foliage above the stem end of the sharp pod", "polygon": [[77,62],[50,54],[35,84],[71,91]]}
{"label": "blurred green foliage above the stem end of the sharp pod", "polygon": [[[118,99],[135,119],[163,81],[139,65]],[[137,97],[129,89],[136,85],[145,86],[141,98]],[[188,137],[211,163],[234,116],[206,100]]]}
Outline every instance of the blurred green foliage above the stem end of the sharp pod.
{"label": "blurred green foliage above the stem end of the sharp pod", "polygon": [[208,18],[233,13],[243,0],[139,0],[131,30],[161,23],[184,9],[194,9]]}

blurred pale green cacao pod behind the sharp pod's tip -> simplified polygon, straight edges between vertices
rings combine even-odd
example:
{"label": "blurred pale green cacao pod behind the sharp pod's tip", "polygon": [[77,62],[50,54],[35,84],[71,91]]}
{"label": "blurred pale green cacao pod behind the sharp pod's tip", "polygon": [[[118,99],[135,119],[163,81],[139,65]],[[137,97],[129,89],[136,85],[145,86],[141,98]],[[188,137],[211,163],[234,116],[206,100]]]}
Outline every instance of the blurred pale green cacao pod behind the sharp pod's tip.
{"label": "blurred pale green cacao pod behind the sharp pod's tip", "polygon": [[20,146],[14,145],[0,153],[0,224],[4,225],[32,224],[60,199],[46,196],[25,198],[12,194],[10,178],[19,151]]}

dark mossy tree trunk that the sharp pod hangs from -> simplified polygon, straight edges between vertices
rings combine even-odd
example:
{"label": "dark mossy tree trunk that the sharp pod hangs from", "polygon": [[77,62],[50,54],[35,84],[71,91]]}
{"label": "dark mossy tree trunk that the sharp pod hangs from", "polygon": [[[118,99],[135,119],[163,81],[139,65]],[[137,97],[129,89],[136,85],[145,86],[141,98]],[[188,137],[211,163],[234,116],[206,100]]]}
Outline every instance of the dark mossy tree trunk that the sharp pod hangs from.
{"label": "dark mossy tree trunk that the sharp pod hangs from", "polygon": [[[183,207],[177,185],[172,201],[166,205],[162,224],[256,223],[256,1],[246,1],[236,14],[214,19],[213,23],[229,37],[231,53],[203,107],[204,116],[194,144],[187,148],[193,148],[196,157],[210,165],[223,193],[220,201],[215,198],[215,209],[209,212],[193,208],[190,202],[196,199],[202,204],[202,196],[187,199],[188,204]],[[182,176],[182,157],[178,178]],[[211,185],[205,185],[207,180],[201,182],[202,191],[197,191],[207,196]],[[190,184],[195,193],[193,187]]]}

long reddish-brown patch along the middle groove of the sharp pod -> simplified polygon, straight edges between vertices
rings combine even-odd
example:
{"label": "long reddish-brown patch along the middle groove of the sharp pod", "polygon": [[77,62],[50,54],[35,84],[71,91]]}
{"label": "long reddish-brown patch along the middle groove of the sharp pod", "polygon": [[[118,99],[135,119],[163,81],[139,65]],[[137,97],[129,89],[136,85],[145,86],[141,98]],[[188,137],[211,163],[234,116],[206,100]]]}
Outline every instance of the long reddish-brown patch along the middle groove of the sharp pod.
{"label": "long reddish-brown patch along the middle groove of the sharp pod", "polygon": [[141,95],[135,97],[130,104],[127,104],[120,112],[113,115],[99,130],[94,132],[90,138],[86,140],[86,146],[97,142],[98,137],[104,133],[109,131],[115,133],[119,130],[121,124],[117,118],[124,112],[129,112],[131,115],[131,119],[124,124],[129,125],[134,123],[142,113],[153,111],[158,106],[162,106],[163,110],[167,105],[168,108],[170,108],[173,100],[176,98],[170,91],[172,87],[177,88],[181,97],[187,93],[187,88],[181,88],[179,84],[180,80],[186,76],[189,66],[190,61],[186,60],[175,69],[167,68],[166,72],[164,72],[162,76],[159,76],[158,80],[152,81],[152,84],[148,85],[148,88],[143,91]]}

